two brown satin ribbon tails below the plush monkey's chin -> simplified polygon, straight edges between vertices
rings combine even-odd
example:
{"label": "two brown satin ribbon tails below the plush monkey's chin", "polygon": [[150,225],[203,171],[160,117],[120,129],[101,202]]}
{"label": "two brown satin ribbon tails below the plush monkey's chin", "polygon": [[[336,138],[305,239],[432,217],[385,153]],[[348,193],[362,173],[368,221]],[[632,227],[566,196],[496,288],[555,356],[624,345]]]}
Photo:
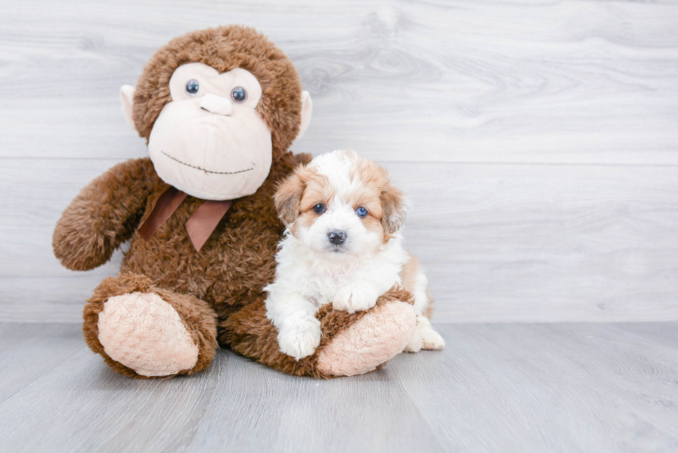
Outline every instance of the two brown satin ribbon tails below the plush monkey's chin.
{"label": "two brown satin ribbon tails below the plush monkey's chin", "polygon": [[[186,199],[187,194],[181,192],[176,187],[170,186],[158,198],[151,214],[138,229],[139,234],[145,241],[150,241],[158,228],[170,218],[181,203]],[[186,230],[196,251],[205,245],[210,238],[210,234],[217,228],[219,221],[226,214],[228,208],[233,202],[231,200],[213,201],[205,200],[198,209],[195,210],[190,219],[186,222]]]}

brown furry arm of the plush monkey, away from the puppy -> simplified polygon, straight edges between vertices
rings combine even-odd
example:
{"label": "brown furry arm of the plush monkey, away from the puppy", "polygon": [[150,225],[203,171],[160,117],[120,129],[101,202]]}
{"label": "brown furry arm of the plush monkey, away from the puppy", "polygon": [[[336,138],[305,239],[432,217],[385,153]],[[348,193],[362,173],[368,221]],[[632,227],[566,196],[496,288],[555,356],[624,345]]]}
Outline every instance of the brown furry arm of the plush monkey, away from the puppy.
{"label": "brown furry arm of the plush monkey, away from the puppy", "polygon": [[111,259],[136,230],[156,178],[149,158],[130,159],[86,185],[54,229],[57,259],[71,270],[90,270]]}

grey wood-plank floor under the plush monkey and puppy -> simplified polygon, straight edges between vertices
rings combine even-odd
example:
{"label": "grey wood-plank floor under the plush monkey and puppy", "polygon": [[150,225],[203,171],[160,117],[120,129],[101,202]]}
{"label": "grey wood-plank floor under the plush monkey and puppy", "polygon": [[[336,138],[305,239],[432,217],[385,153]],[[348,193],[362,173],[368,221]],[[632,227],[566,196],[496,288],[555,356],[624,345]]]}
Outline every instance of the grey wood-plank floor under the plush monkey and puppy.
{"label": "grey wood-plank floor under the plush monkey and puppy", "polygon": [[114,374],[77,324],[0,324],[3,452],[676,452],[678,324],[439,324],[441,352],[329,381],[219,351]]}

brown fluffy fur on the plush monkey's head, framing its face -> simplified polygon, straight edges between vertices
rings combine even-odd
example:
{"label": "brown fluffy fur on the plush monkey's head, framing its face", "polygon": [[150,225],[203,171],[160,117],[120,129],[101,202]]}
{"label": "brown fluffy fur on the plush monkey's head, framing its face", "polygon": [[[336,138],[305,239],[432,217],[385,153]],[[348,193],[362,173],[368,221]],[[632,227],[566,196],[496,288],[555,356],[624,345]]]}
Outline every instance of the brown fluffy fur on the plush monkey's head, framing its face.
{"label": "brown fluffy fur on the plush monkey's head, framing its face", "polygon": [[299,133],[302,85],[288,57],[262,33],[244,26],[208,28],[172,39],[144,67],[134,93],[134,124],[148,140],[153,124],[170,96],[170,77],[182,64],[202,63],[225,73],[243,68],[262,85],[257,111],[273,139],[273,159]]}

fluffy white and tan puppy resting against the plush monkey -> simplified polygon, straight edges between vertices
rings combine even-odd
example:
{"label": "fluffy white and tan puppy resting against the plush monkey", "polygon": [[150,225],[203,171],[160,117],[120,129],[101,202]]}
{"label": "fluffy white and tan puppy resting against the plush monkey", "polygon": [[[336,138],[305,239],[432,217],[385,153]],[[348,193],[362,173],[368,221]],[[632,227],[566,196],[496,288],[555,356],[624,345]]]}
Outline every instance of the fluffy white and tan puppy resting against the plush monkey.
{"label": "fluffy white and tan puppy resting against the plush monkey", "polygon": [[297,360],[311,355],[322,335],[320,306],[367,310],[395,284],[414,295],[416,329],[405,351],[443,348],[428,320],[428,280],[403,248],[408,203],[383,167],[351,150],[332,151],[297,168],[274,200],[287,228],[275,281],[264,289],[280,351]]}

